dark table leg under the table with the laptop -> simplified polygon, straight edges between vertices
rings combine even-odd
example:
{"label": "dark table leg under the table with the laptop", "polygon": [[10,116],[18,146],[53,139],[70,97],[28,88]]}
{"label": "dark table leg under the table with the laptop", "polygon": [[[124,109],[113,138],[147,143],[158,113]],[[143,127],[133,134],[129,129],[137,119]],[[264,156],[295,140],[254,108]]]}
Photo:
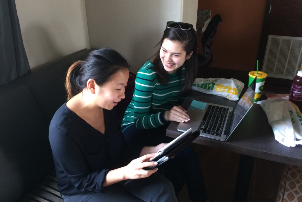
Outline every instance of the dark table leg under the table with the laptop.
{"label": "dark table leg under the table with the laptop", "polygon": [[240,155],[233,202],[244,202],[247,200],[254,159],[252,156]]}

